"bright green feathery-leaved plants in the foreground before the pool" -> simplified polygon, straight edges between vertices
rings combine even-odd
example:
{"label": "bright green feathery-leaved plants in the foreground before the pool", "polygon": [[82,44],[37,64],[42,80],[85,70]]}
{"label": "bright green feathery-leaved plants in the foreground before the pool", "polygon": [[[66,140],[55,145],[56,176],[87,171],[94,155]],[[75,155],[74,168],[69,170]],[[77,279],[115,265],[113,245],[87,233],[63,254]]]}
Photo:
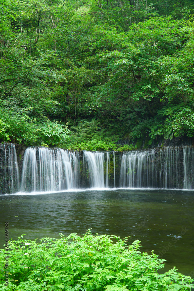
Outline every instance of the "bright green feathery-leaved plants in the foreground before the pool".
{"label": "bright green feathery-leaved plants in the foreground before the pool", "polygon": [[[115,243],[113,243],[115,240]],[[127,245],[115,235],[83,237],[71,234],[60,239],[43,238],[10,242],[9,287],[4,285],[4,250],[1,250],[1,290],[20,291],[178,291],[191,290],[191,277],[171,269],[157,270],[163,259],[139,251],[140,242]]]}

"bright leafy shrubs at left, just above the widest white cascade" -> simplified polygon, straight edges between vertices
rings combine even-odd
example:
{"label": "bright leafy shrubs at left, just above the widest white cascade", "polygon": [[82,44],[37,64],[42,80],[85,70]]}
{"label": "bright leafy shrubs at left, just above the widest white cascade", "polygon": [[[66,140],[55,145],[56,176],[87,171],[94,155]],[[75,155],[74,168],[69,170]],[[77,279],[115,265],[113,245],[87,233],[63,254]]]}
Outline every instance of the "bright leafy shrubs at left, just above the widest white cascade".
{"label": "bright leafy shrubs at left, just above the widest white cascade", "polygon": [[69,138],[70,130],[67,127],[69,122],[62,125],[58,121],[47,119],[46,122],[42,120],[38,123],[34,117],[29,117],[31,109],[23,108],[19,112],[14,112],[13,109],[0,108],[0,139],[26,146],[50,144],[59,146],[60,142]]}

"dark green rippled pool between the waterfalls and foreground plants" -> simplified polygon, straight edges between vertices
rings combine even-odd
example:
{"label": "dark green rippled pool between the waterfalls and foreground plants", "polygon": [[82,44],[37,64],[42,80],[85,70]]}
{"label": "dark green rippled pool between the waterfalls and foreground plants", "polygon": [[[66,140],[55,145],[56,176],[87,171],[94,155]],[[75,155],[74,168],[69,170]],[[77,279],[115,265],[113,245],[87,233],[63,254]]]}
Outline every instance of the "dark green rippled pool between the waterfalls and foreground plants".
{"label": "dark green rippled pool between the waterfalls and foreground plants", "polygon": [[59,233],[130,236],[141,251],[167,260],[164,271],[176,266],[194,274],[194,192],[181,190],[74,191],[0,196],[1,236],[9,222],[11,239],[59,237]]}

